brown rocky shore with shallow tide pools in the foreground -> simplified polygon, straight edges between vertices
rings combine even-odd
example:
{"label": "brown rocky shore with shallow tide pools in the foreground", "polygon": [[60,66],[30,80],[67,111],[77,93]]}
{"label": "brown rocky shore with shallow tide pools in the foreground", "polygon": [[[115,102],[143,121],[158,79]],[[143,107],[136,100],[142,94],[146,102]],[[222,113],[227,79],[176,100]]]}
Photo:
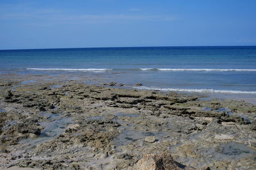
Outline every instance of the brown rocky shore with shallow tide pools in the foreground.
{"label": "brown rocky shore with shallow tide pools in the foreground", "polygon": [[256,169],[253,104],[22,81],[0,81],[0,169]]}

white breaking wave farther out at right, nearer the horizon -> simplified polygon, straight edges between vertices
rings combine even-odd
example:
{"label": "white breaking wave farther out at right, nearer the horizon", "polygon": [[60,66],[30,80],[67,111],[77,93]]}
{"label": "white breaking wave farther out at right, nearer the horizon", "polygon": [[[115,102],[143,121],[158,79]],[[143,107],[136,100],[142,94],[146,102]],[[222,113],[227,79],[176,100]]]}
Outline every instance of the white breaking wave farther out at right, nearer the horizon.
{"label": "white breaking wave farther out at right, nearer the horizon", "polygon": [[162,68],[140,68],[140,70],[156,70],[156,71],[256,71],[256,69],[162,69]]}

